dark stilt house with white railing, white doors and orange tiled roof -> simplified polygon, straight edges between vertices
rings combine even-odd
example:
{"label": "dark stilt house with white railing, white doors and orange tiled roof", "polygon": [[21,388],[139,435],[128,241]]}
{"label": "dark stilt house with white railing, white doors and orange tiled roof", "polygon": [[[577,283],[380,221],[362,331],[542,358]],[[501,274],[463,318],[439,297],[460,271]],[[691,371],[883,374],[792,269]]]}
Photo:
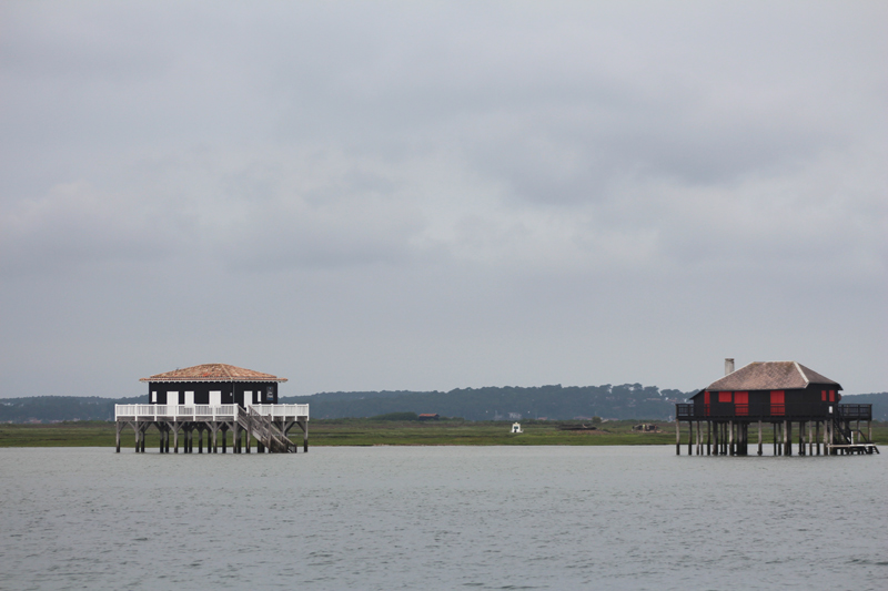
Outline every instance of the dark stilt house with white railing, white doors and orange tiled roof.
{"label": "dark stilt house with white railing, white doors and orange tiled roof", "polygon": [[117,405],[117,450],[120,434],[129,425],[135,434],[135,450],[145,450],[145,432],[155,427],[160,432],[160,451],[179,452],[180,435],[183,451],[194,450],[198,435],[198,454],[203,454],[206,434],[206,452],[228,449],[232,434],[232,451],[250,454],[251,440],[256,451],[295,452],[296,445],[289,431],[299,426],[303,432],[303,447],[309,450],[309,405],[279,405],[278,384],[286,381],[271,374],[253,371],[225,364],[205,364],[165,374],[157,374],[140,381],[148,383],[148,405]]}

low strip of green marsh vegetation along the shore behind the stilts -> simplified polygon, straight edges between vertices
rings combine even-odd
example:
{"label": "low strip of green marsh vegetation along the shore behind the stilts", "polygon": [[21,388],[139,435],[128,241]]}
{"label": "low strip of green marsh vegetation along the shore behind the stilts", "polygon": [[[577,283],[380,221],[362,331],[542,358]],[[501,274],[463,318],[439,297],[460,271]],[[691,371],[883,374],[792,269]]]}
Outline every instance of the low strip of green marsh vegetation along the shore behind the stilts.
{"label": "low strip of green marsh vegetation along the shore behind the stilts", "polygon": [[[589,422],[585,424],[592,427]],[[634,431],[638,421],[608,421],[595,429],[576,429],[578,421],[523,421],[523,434],[511,434],[511,422],[396,421],[372,419],[320,419],[309,424],[310,446],[635,446],[674,445],[675,424],[658,422],[654,432]],[[571,429],[573,427],[574,429]],[[683,441],[687,441],[686,426]],[[770,429],[765,441],[770,444]],[[749,434],[754,441],[755,435]],[[301,441],[299,429],[291,431]],[[229,436],[231,437],[231,436]],[[888,444],[888,422],[874,421],[872,437]],[[105,421],[57,422],[52,425],[0,425],[0,447],[113,447],[114,424]],[[148,434],[145,450],[157,450],[158,432]],[[132,429],[123,431],[122,447],[133,447]],[[196,447],[196,442],[195,442]]]}

